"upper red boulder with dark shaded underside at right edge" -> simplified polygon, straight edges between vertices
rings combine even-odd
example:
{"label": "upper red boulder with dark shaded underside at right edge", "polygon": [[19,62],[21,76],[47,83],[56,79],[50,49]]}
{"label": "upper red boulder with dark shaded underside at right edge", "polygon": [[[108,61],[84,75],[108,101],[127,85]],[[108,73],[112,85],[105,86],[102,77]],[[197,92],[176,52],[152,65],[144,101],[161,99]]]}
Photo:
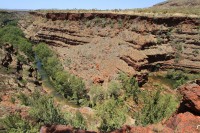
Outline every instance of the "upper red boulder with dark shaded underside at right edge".
{"label": "upper red boulder with dark shaded underside at right edge", "polygon": [[178,111],[190,111],[200,115],[200,86],[196,83],[187,84],[182,86],[179,92],[183,95],[183,99]]}

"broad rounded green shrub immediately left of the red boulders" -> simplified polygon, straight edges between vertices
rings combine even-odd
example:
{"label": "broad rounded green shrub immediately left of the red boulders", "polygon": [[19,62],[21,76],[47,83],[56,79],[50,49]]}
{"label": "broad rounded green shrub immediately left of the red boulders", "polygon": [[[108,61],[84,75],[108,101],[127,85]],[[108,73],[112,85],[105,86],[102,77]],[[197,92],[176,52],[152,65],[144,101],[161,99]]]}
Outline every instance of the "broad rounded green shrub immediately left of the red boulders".
{"label": "broad rounded green shrub immediately left of the red boulders", "polygon": [[158,123],[168,118],[176,110],[179,101],[170,94],[161,94],[160,91],[153,93],[152,97],[144,97],[144,107],[136,114],[137,125]]}

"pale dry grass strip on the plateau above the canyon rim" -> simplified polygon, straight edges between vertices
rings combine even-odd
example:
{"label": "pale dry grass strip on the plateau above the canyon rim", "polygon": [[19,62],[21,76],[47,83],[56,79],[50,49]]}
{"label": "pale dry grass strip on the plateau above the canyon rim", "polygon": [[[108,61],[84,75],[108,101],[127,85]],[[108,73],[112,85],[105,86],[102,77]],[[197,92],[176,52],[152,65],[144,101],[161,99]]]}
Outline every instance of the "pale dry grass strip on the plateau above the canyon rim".
{"label": "pale dry grass strip on the plateau above the canyon rim", "polygon": [[72,10],[36,10],[42,14],[45,13],[113,13],[113,14],[127,14],[127,15],[141,15],[153,17],[200,17],[199,7],[170,7],[170,8],[144,8],[144,9],[126,9],[126,10],[85,10],[85,9],[72,9]]}

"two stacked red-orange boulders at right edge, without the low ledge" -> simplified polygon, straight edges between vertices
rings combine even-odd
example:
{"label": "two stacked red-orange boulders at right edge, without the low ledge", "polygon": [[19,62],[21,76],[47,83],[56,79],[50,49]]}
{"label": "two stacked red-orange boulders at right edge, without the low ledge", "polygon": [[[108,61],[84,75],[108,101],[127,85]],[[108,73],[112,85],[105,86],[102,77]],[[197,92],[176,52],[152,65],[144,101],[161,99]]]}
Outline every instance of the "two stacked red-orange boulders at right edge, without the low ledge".
{"label": "two stacked red-orange boulders at right edge, without the low ledge", "polygon": [[198,127],[200,124],[200,86],[196,83],[188,83],[180,87],[179,92],[183,95],[182,102],[177,114],[166,122],[166,126],[177,133],[200,132]]}

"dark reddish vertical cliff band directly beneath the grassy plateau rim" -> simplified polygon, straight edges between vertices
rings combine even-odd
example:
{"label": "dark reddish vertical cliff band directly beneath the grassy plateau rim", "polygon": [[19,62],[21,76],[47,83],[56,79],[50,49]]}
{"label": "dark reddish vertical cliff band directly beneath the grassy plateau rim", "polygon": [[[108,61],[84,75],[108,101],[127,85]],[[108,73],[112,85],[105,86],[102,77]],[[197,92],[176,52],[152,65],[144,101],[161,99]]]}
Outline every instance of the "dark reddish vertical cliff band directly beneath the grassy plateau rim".
{"label": "dark reddish vertical cliff band directly beneath the grassy plateau rim", "polygon": [[37,13],[37,12],[30,12],[30,14],[35,16],[46,17],[47,19],[55,20],[81,20],[81,19],[94,19],[94,18],[111,18],[111,19],[123,19],[123,20],[131,20],[131,19],[139,19],[139,20],[147,20],[149,22],[155,24],[167,24],[168,26],[176,26],[179,23],[187,20],[189,23],[194,23],[198,25],[199,23],[196,22],[198,18],[188,18],[188,17],[147,17],[147,16],[138,16],[138,15],[127,15],[127,14],[113,14],[113,13]]}

